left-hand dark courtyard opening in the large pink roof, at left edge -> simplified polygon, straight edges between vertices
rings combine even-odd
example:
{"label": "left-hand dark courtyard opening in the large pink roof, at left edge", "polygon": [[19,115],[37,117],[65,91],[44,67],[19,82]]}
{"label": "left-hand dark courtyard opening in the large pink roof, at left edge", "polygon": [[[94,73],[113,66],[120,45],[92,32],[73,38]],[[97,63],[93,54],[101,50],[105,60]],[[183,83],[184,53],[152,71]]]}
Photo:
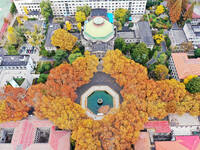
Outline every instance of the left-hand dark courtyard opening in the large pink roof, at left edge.
{"label": "left-hand dark courtyard opening in the large pink roof, at left edge", "polygon": [[0,143],[11,143],[13,133],[13,128],[2,128],[0,130]]}

